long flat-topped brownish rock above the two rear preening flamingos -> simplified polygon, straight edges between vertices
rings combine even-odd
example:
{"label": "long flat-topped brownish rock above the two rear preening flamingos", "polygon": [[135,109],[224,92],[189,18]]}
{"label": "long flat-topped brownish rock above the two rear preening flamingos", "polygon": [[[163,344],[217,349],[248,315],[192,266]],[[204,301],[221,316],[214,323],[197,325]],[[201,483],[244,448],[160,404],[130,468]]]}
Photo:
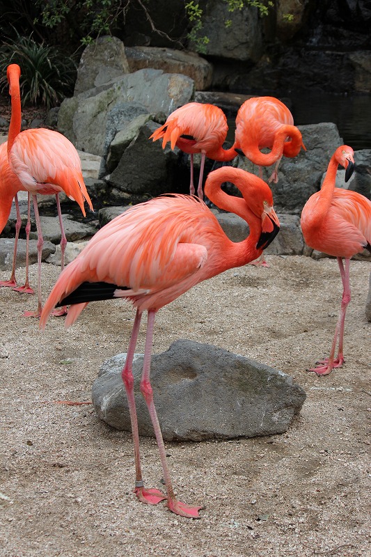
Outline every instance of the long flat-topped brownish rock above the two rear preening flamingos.
{"label": "long flat-topped brownish rock above the two rear preening flamingos", "polygon": [[212,64],[196,52],[170,48],[125,47],[131,72],[155,68],[169,74],[182,74],[194,80],[197,91],[205,91],[212,84]]}

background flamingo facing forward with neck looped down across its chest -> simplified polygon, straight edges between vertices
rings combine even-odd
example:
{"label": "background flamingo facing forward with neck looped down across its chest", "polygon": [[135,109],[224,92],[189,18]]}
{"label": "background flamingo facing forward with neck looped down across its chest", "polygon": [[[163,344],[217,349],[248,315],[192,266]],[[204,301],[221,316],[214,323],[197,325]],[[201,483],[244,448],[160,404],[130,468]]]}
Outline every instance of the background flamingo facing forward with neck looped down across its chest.
{"label": "background flamingo facing forward with neck looped down across its chest", "polygon": [[[290,138],[290,141],[286,141]],[[260,149],[269,148],[271,152],[262,153]],[[301,148],[305,150],[301,132],[294,126],[292,113],[281,100],[275,97],[252,97],[242,104],[237,112],[235,148],[259,166],[276,163],[269,178],[278,182],[278,165],[283,155],[296,157]]]}

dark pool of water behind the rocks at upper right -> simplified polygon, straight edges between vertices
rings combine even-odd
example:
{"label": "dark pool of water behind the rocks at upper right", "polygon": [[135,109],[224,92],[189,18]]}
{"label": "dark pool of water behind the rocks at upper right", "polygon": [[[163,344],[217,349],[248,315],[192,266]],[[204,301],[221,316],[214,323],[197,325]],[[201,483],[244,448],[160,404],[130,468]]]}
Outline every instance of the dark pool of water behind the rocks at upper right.
{"label": "dark pool of water behind the rocks at upper right", "polygon": [[291,96],[295,125],[333,122],[346,145],[371,149],[371,95]]}

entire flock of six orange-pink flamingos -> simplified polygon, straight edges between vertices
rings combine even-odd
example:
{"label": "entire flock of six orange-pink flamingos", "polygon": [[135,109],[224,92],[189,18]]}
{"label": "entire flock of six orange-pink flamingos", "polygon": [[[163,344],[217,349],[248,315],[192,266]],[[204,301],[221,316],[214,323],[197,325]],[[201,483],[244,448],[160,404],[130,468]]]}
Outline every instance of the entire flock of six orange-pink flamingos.
{"label": "entire flock of six orange-pink flamingos", "polygon": [[[38,230],[38,309],[32,315],[40,317],[40,328],[45,329],[53,312],[64,314],[65,308],[70,306],[65,317],[65,327],[70,327],[92,301],[123,298],[132,302],[136,315],[122,378],[132,424],[134,493],[143,503],[155,505],[166,501],[168,509],[176,515],[199,518],[202,507],[178,501],[168,469],[150,382],[155,317],[161,308],[194,285],[262,256],[263,250],[274,240],[280,228],[271,189],[262,180],[262,166],[275,165],[269,182],[276,183],[281,158],[296,157],[301,149],[305,150],[301,132],[294,126],[292,114],[281,101],[274,97],[253,97],[240,107],[235,142],[231,148],[224,149],[228,125],[221,109],[212,104],[191,102],[175,110],[150,139],[161,139],[163,148],[170,142],[172,149],[177,146],[190,155],[190,195],[168,194],[134,205],[103,226],[79,256],[64,269],[62,267],[42,308],[42,230],[36,194],[56,195],[62,230],[62,258],[65,235],[59,192],[65,191],[77,201],[84,215],[84,201],[90,209],[93,207],[82,178],[79,157],[72,144],[61,134],[50,130],[20,132],[19,74],[17,65],[8,67],[12,116],[8,143],[0,148],[0,230],[5,226],[14,198],[17,210],[16,256],[20,228],[17,192],[28,191],[29,204],[31,198],[33,201]],[[261,152],[262,148],[269,148],[270,152]],[[201,155],[197,196],[193,158],[196,153]],[[222,166],[207,175],[203,191],[205,158],[223,162],[237,155],[244,155],[258,165],[259,175],[232,166]],[[317,375],[328,375],[344,362],[345,313],[350,301],[349,262],[352,256],[363,249],[371,251],[371,202],[354,191],[335,187],[339,165],[345,168],[345,180],[349,180],[354,171],[354,152],[349,146],[340,146],[333,154],[321,189],[308,199],[301,214],[301,228],[306,243],[313,249],[338,258],[343,284],[340,315],[329,358],[309,369]],[[232,182],[241,196],[226,194],[222,189],[224,182]],[[237,214],[246,221],[249,234],[245,240],[235,243],[228,239],[212,211],[205,205],[204,192],[221,210]],[[29,223],[27,227],[28,237]],[[10,280],[1,285],[17,289],[15,256]],[[28,272],[25,285],[18,287],[18,290],[31,291]],[[56,308],[62,308],[62,311]],[[147,313],[147,328],[140,390],[155,431],[166,492],[146,487],[141,470],[132,362],[144,312]],[[338,354],[335,356],[337,345]]]}

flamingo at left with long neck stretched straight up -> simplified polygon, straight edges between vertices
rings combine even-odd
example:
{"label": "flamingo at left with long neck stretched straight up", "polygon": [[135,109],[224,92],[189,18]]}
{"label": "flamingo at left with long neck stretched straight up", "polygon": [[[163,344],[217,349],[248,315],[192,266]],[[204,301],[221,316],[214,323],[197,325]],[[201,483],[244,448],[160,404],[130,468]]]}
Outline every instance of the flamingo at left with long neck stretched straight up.
{"label": "flamingo at left with long neck stretched straight up", "polygon": [[[19,65],[10,64],[7,69],[9,93],[11,97],[12,113],[8,133],[8,162],[11,170],[17,176],[22,189],[32,196],[35,211],[36,228],[38,232],[38,309],[35,312],[24,312],[25,316],[40,317],[41,301],[41,256],[44,240],[38,212],[37,194],[55,194],[59,223],[61,226],[61,268],[64,266],[64,253],[67,240],[63,228],[59,192],[77,201],[82,214],[86,216],[84,202],[93,210],[88,191],[81,173],[81,161],[77,150],[68,139],[52,130],[38,128],[37,130],[21,129],[21,98],[19,91]],[[63,315],[65,310],[60,312]]]}

